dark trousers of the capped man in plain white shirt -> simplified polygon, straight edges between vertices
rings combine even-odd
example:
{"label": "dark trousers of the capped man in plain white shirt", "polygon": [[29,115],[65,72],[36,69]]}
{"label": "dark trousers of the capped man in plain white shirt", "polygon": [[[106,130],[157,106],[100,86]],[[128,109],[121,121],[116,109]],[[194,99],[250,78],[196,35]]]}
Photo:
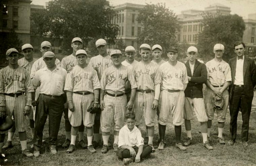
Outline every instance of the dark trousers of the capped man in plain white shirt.
{"label": "dark trousers of the capped man in plain white shirt", "polygon": [[43,127],[49,116],[49,147],[56,147],[61,117],[64,109],[63,96],[56,98],[40,94],[35,112],[34,150],[40,150]]}

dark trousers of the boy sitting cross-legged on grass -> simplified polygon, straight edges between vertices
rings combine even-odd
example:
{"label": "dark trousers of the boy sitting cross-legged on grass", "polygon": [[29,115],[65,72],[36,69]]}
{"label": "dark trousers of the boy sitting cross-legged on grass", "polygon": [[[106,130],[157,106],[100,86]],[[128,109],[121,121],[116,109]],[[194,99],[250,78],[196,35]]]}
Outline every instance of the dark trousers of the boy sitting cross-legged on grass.
{"label": "dark trousers of the boy sitting cross-legged on grass", "polygon": [[[133,149],[137,154],[139,148],[134,146]],[[140,158],[147,158],[151,152],[152,152],[152,148],[148,144],[144,145]],[[131,153],[129,149],[118,148],[117,155],[119,159],[131,158]]]}

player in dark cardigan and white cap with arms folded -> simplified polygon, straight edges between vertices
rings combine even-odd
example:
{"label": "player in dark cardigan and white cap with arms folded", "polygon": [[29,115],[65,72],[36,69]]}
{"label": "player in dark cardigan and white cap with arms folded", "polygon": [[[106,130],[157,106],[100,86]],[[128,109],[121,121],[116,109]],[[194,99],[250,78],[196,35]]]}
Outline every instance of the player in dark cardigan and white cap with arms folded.
{"label": "player in dark cardigan and white cap with arms folded", "polygon": [[185,146],[189,146],[192,142],[191,122],[193,119],[193,110],[195,111],[197,120],[200,122],[200,131],[203,136],[203,146],[208,150],[213,150],[213,147],[207,141],[207,114],[203,101],[203,84],[207,81],[207,70],[203,63],[200,63],[196,58],[198,55],[197,48],[191,46],[187,50],[188,61],[185,63],[188,74],[188,85],[185,89],[185,104],[184,104],[184,123],[187,132],[187,141]]}

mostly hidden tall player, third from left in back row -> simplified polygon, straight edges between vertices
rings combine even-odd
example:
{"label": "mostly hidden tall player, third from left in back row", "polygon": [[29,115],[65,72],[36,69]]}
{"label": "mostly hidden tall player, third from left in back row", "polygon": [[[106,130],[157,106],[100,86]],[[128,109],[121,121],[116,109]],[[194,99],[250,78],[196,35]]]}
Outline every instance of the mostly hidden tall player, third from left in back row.
{"label": "mostly hidden tall player, third from left in back row", "polygon": [[[80,50],[83,48],[83,41],[81,38],[73,38],[71,42],[71,47],[73,49],[73,53],[69,56],[64,57],[61,60],[61,67],[67,70],[67,73],[70,73],[73,70],[73,67],[77,65],[77,60],[75,53],[77,50]],[[66,133],[66,140],[64,144],[62,145],[63,148],[67,148],[70,145],[71,140],[71,124],[68,120],[68,108],[64,109],[64,119],[65,119],[65,133]],[[84,142],[84,130],[85,126],[82,124],[78,127],[78,135],[79,135],[79,145],[81,145],[83,148],[87,148],[85,142]]]}

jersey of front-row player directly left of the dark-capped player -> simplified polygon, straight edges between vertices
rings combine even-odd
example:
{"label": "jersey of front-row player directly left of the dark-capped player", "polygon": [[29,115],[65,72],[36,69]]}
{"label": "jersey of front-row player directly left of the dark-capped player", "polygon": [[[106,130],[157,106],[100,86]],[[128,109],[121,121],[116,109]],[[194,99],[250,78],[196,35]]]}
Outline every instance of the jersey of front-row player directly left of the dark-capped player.
{"label": "jersey of front-row player directly left of the dark-capped player", "polygon": [[155,85],[161,83],[159,66],[152,62],[144,64],[140,61],[134,66],[134,71],[138,90],[155,91]]}

